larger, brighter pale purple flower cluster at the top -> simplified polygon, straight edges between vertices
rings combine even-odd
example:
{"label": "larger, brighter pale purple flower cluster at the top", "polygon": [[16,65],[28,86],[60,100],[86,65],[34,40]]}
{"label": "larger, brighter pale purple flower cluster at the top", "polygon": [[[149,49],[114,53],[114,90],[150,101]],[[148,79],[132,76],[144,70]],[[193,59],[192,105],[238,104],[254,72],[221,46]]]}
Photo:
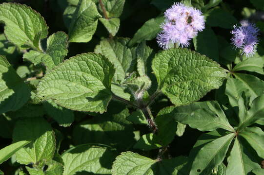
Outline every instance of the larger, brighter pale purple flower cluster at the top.
{"label": "larger, brighter pale purple flower cluster at the top", "polygon": [[175,43],[187,47],[189,40],[204,29],[202,12],[183,3],[172,5],[164,16],[165,22],[161,25],[163,30],[157,36],[157,42],[163,49],[169,49]]}

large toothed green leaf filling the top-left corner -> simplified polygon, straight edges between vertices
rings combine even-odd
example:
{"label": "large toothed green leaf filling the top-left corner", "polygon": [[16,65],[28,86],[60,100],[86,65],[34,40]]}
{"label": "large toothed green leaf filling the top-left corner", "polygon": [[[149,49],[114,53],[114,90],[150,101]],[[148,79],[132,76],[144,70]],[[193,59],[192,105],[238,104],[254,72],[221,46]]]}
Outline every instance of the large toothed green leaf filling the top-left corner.
{"label": "large toothed green leaf filling the top-left corner", "polygon": [[18,3],[0,4],[0,21],[5,23],[4,33],[20,49],[35,47],[33,41],[48,35],[48,27],[41,15],[31,7]]}

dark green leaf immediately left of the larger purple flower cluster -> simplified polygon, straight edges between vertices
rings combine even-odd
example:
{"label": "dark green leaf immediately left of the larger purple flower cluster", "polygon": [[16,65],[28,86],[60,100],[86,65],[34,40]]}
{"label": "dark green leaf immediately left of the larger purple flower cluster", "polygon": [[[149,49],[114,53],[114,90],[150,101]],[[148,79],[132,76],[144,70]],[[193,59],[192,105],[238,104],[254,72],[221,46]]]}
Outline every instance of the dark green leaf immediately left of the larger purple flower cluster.
{"label": "dark green leaf immediately left of the larger purple flower cluster", "polygon": [[162,22],[164,22],[164,17],[152,18],[146,21],[129,41],[129,46],[131,47],[136,43],[155,38],[162,31],[160,27]]}

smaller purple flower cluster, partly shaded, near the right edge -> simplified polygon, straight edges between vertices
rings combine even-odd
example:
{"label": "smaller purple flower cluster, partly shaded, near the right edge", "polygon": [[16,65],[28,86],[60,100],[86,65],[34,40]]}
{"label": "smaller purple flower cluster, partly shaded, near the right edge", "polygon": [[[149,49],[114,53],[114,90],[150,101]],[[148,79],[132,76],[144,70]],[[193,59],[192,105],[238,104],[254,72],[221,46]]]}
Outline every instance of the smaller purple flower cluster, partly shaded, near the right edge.
{"label": "smaller purple flower cluster, partly shaded, near the right edge", "polygon": [[259,28],[255,24],[251,24],[248,21],[241,21],[241,26],[234,25],[234,30],[231,31],[233,37],[232,43],[236,48],[243,49],[246,56],[255,54],[256,45],[258,44]]}

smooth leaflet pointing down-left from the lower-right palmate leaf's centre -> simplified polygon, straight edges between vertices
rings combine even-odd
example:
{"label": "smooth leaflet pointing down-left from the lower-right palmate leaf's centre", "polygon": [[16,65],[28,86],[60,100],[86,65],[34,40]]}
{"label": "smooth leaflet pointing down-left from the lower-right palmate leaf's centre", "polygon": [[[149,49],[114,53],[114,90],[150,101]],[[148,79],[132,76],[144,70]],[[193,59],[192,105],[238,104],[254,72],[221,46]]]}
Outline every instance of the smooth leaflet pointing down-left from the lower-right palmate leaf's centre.
{"label": "smooth leaflet pointing down-left from the lower-right palmate leaf's centre", "polygon": [[193,161],[190,175],[206,174],[222,163],[234,137],[231,133],[205,144]]}

